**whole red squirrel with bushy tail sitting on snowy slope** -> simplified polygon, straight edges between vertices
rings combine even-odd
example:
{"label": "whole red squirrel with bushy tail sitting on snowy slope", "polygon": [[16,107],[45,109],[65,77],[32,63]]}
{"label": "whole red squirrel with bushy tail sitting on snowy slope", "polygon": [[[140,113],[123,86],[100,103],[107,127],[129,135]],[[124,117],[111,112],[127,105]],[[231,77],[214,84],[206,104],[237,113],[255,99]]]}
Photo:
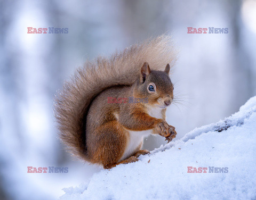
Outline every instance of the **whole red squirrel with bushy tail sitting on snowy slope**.
{"label": "whole red squirrel with bushy tail sitting on snowy slope", "polygon": [[[163,35],[86,62],[55,99],[59,137],[68,151],[110,169],[148,154],[141,147],[149,134],[171,141],[177,132],[165,121],[174,89],[167,63],[175,60],[172,40]],[[108,97],[147,102],[109,103]]]}

